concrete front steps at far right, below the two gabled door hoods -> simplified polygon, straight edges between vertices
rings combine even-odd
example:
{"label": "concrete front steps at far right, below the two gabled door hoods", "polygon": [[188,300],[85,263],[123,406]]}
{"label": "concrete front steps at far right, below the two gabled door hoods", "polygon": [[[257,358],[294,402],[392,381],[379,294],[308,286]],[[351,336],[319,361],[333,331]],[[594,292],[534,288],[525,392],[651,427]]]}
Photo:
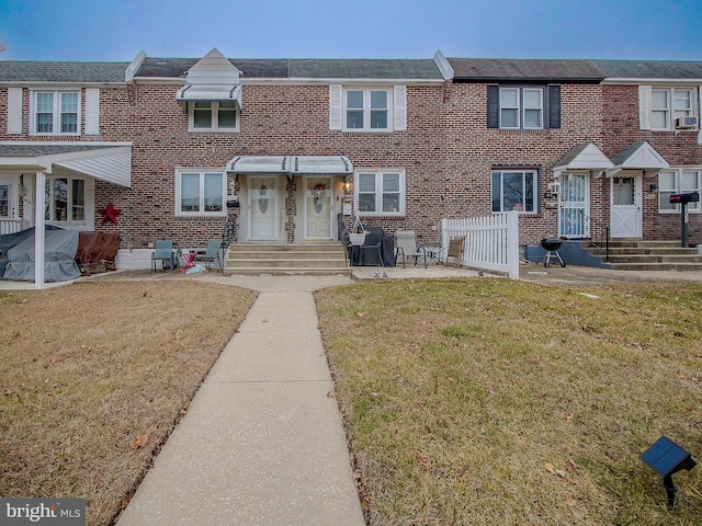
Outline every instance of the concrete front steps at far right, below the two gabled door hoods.
{"label": "concrete front steps at far right, below the two gabled door hoods", "polygon": [[[604,248],[590,249],[604,262]],[[680,241],[610,240],[609,264],[615,271],[700,271],[702,255],[697,248],[682,248]]]}

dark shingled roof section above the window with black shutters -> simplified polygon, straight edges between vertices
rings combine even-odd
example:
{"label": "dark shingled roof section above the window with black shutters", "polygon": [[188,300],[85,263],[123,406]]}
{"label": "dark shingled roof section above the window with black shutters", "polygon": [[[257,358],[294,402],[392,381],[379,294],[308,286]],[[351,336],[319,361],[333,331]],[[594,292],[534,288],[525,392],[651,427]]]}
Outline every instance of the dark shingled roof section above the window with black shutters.
{"label": "dark shingled roof section above the window with black shutters", "polygon": [[604,73],[590,60],[449,58],[456,82],[584,82],[597,83]]}

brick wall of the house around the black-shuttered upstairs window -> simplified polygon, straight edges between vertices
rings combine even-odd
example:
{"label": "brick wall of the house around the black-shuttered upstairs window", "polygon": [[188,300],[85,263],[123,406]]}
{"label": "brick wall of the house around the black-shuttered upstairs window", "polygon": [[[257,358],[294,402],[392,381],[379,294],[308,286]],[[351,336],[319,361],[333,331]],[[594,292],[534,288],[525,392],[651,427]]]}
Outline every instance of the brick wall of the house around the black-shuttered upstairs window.
{"label": "brick wall of the house around the black-shuttered upstairs window", "polygon": [[[541,197],[553,182],[553,165],[575,145],[601,146],[601,87],[562,85],[562,127],[546,130],[488,129],[487,84],[445,87],[445,171],[438,214],[448,217],[491,213],[490,170],[495,165],[535,167],[541,170]],[[591,215],[600,220],[598,181],[593,181]],[[557,233],[557,210],[543,206],[536,215],[520,217],[520,243],[539,243]],[[443,210],[443,211],[441,211]]]}

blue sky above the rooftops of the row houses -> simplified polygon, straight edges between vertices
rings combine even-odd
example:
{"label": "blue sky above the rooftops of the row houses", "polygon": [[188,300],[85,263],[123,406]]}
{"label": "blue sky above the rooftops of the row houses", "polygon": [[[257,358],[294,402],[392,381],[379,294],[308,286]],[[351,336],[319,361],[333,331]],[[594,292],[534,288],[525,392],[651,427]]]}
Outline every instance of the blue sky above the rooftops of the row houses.
{"label": "blue sky above the rooftops of the row houses", "polygon": [[7,60],[702,60],[702,0],[0,0]]}

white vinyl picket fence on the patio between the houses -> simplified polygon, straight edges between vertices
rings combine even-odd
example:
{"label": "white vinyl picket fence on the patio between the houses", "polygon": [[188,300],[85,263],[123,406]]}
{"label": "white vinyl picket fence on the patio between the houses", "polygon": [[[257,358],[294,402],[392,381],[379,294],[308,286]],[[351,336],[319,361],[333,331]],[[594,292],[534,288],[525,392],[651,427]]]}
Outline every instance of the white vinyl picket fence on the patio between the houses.
{"label": "white vinyl picket fence on the patio between the houses", "polygon": [[[441,247],[448,248],[452,239],[464,236],[463,253],[456,263],[519,278],[518,211],[441,220]],[[445,262],[446,250],[442,251],[442,258]]]}

